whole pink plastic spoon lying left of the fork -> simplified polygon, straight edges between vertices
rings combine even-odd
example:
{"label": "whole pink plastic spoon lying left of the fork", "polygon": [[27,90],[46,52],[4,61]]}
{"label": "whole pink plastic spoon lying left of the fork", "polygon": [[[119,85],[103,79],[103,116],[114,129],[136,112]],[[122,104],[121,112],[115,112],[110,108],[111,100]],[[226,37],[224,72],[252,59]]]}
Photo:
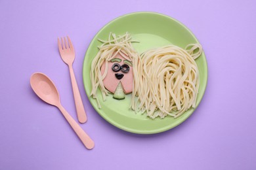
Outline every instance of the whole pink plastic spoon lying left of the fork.
{"label": "whole pink plastic spoon lying left of the fork", "polygon": [[60,109],[75,133],[81,139],[86,148],[92,149],[95,146],[93,140],[83,131],[83,129],[75,122],[68,112],[60,104],[60,95],[53,81],[43,73],[34,73],[30,78],[30,84],[33,91],[46,103],[54,105]]}

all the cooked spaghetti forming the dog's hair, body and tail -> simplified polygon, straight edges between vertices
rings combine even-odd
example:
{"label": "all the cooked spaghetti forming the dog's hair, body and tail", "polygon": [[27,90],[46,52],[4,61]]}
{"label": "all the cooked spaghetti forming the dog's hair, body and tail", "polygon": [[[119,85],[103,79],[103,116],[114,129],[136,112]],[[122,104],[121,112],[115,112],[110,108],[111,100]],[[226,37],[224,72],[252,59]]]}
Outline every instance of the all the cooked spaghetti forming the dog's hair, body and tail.
{"label": "all the cooked spaghetti forming the dog's hair, body and tail", "polygon": [[[100,103],[97,89],[103,100],[108,95],[103,80],[107,74],[108,61],[118,53],[133,63],[133,93],[131,109],[146,113],[154,119],[174,118],[196,106],[199,88],[199,71],[195,59],[202,54],[200,44],[188,44],[185,50],[175,45],[163,46],[138,54],[132,46],[131,35],[116,37],[110,33],[107,41],[102,41],[99,52],[91,64],[91,96]],[[103,75],[100,72],[106,61]]]}

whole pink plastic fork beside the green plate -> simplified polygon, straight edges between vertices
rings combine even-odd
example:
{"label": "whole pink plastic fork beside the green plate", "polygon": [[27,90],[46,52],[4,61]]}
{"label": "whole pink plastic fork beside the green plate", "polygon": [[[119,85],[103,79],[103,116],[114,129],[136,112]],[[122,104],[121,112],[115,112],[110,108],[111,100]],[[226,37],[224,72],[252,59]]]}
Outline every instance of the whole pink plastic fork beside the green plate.
{"label": "whole pink plastic fork beside the green plate", "polygon": [[[60,39],[61,39],[61,42],[60,42]],[[73,94],[75,99],[75,109],[77,112],[77,118],[80,123],[85,123],[87,121],[87,116],[85,113],[85,109],[83,107],[83,102],[77,86],[77,82],[75,80],[75,74],[72,67],[72,64],[75,59],[75,50],[72,42],[70,41],[70,37],[68,37],[68,41],[66,41],[65,37],[60,39],[58,39],[58,50],[60,52],[60,56],[62,60],[64,61],[64,63],[68,65],[68,68],[70,69],[70,77],[71,77]]]}

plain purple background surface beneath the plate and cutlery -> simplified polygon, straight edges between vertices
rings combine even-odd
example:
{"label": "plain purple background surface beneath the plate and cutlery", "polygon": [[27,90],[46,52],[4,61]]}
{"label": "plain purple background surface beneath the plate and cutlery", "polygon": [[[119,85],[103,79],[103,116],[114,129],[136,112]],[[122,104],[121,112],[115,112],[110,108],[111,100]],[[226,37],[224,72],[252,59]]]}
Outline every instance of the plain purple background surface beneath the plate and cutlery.
{"label": "plain purple background surface beneath the plate and cutlery", "polygon": [[[256,169],[255,1],[0,1],[0,169]],[[160,12],[202,43],[209,69],[202,103],[186,122],[156,135],[117,129],[90,105],[85,52],[105,24],[130,12]],[[43,72],[75,116],[57,37],[74,43],[74,71],[87,111],[87,150],[59,110],[30,88]]]}

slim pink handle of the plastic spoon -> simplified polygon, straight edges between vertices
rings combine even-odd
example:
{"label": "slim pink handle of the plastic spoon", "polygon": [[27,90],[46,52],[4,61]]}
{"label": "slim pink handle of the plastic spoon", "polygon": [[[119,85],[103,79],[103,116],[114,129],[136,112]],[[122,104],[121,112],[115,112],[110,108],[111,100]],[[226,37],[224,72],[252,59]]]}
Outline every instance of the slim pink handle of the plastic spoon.
{"label": "slim pink handle of the plastic spoon", "polygon": [[77,124],[77,122],[75,122],[74,118],[72,118],[72,116],[68,114],[68,112],[64,109],[64,107],[62,107],[62,105],[59,105],[58,109],[60,109],[63,116],[66,118],[70,126],[74,129],[75,133],[85,145],[85,147],[88,149],[92,149],[95,146],[95,143],[93,142],[91,137],[89,137],[89,135],[87,135],[87,133],[83,131],[83,129]]}

